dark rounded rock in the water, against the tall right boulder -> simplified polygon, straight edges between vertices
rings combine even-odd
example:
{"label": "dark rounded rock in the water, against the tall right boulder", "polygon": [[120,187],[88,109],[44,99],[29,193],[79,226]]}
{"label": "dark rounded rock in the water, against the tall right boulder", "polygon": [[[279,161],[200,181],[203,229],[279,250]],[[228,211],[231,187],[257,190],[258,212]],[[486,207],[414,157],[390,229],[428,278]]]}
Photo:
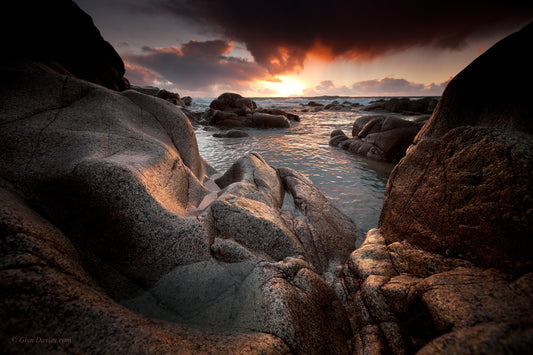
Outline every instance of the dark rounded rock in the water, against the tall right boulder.
{"label": "dark rounded rock in the water, against the tall right boulder", "polygon": [[353,124],[353,138],[342,131],[334,131],[329,144],[370,159],[398,162],[424,123],[423,119],[407,121],[396,116],[362,116]]}

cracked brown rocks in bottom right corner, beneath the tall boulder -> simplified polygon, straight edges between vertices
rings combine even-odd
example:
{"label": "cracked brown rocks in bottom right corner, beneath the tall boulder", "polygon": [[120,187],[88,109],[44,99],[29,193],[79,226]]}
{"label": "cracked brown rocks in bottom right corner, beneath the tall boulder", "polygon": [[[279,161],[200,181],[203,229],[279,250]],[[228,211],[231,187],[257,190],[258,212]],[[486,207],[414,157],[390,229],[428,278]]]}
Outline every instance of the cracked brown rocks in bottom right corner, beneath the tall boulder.
{"label": "cracked brown rocks in bottom right corner, beneath the tall boulder", "polygon": [[433,254],[370,230],[343,269],[354,352],[529,353],[533,273]]}

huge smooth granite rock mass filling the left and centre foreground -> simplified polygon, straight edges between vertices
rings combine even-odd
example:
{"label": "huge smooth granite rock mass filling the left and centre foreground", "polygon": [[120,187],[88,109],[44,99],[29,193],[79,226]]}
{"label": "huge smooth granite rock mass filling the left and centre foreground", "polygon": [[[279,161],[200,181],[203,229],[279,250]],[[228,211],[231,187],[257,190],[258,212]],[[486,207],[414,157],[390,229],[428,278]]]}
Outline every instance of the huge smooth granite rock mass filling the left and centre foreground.
{"label": "huge smooth granite rock mass filling the left and centre foreground", "polygon": [[41,68],[1,71],[3,349],[349,352],[357,228],[310,181],[251,154],[215,184],[175,105]]}

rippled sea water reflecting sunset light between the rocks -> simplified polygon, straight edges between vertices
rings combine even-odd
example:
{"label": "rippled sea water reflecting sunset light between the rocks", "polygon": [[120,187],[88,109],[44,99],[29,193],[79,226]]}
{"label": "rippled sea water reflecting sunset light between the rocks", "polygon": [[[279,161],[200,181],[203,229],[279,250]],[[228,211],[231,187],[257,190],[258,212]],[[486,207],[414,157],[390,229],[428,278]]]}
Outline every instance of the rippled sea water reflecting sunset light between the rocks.
{"label": "rippled sea water reflecting sunset light between the rocks", "polygon": [[[350,99],[367,103],[369,99]],[[331,131],[342,129],[351,136],[354,120],[368,113],[299,112],[300,103],[309,100],[256,100],[261,107],[295,111],[300,122],[286,129],[243,128],[250,137],[215,138],[211,127],[195,127],[200,154],[218,171],[224,172],[235,160],[256,152],[272,166],[289,167],[305,174],[362,233],[377,227],[385,186],[392,164],[355,156],[328,144]],[[314,100],[329,103],[332,100]],[[339,100],[340,102],[344,99]],[[193,109],[201,109],[202,103]]]}

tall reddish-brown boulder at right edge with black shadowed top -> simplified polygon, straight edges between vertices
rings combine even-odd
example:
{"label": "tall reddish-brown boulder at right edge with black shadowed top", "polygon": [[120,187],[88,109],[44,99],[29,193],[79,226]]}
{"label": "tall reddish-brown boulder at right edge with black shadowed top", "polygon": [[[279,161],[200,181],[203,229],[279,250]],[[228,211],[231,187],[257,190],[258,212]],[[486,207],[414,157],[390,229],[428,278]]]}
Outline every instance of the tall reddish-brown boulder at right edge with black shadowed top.
{"label": "tall reddish-brown boulder at right edge with black shadowed top", "polygon": [[521,274],[533,266],[533,25],[459,73],[393,171],[380,226],[387,241]]}

